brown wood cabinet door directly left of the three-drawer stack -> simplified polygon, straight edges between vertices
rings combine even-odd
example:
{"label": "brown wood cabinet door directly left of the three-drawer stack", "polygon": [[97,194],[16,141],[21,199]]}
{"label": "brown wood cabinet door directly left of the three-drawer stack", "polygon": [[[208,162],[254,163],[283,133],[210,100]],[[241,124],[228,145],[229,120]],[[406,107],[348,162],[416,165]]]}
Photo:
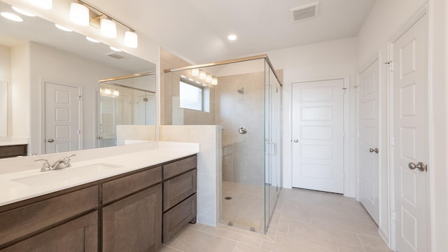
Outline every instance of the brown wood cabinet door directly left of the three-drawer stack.
{"label": "brown wood cabinet door directly left of the three-drawer stack", "polygon": [[162,241],[162,185],[103,208],[103,251],[156,251]]}

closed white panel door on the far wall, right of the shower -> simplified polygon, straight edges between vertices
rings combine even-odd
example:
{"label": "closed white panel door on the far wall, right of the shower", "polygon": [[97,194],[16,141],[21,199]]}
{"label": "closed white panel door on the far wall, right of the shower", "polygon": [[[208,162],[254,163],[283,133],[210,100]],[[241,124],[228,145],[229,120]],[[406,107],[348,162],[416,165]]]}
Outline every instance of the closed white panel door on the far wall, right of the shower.
{"label": "closed white panel door on the far wall, right of the shower", "polygon": [[293,83],[293,187],[344,193],[344,80]]}

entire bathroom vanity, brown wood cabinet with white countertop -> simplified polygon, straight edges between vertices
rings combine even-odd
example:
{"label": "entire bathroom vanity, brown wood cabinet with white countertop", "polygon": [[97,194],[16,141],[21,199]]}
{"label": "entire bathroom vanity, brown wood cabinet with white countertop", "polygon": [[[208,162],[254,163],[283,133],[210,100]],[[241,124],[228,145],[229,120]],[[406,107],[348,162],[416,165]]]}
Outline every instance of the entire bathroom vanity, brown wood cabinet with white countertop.
{"label": "entire bathroom vanity, brown wood cabinet with white countertop", "polygon": [[[1,174],[0,183],[18,185],[0,194],[0,251],[156,251],[196,220],[196,153],[141,151]],[[78,179],[48,182],[64,172]]]}

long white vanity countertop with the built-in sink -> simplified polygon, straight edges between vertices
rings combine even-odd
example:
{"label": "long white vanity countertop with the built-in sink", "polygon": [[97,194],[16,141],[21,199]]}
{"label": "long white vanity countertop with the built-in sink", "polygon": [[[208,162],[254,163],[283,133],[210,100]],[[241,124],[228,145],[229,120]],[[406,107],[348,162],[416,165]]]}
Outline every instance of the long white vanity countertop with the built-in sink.
{"label": "long white vanity countertop with the built-in sink", "polygon": [[[193,148],[189,144],[188,146],[189,148],[177,148],[176,146],[171,148],[169,144],[159,144],[158,148],[146,151],[80,162],[76,162],[76,157],[73,157],[71,167],[50,172],[41,172],[39,168],[0,174],[0,206],[158,165],[199,152],[199,144],[193,144]],[[54,162],[54,160],[49,160],[49,162]],[[36,166],[36,164],[33,165]]]}

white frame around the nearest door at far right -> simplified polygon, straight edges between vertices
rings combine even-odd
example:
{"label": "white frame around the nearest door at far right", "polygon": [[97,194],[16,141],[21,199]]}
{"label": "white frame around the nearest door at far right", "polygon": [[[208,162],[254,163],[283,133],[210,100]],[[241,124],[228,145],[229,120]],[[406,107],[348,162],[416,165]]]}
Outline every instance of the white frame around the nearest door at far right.
{"label": "white frame around the nearest door at far right", "polygon": [[[394,43],[395,43],[395,41],[397,41],[398,40],[398,38],[400,38],[401,36],[403,36],[406,32],[407,32],[407,30],[409,30],[412,26],[414,26],[415,24],[416,24],[416,22],[418,22],[424,15],[428,15],[428,24],[427,24],[427,29],[428,29],[428,48],[426,48],[426,50],[427,50],[427,55],[428,55],[428,58],[427,58],[427,60],[428,60],[428,64],[427,64],[427,81],[428,81],[428,86],[427,86],[427,88],[428,88],[428,97],[427,97],[427,105],[428,105],[428,111],[426,111],[427,113],[428,113],[428,139],[426,139],[426,141],[427,141],[427,144],[428,144],[428,162],[427,162],[427,165],[428,165],[428,176],[427,176],[427,183],[426,183],[426,185],[427,185],[427,197],[428,197],[428,200],[426,201],[427,202],[427,205],[426,205],[426,208],[427,208],[427,212],[428,212],[428,214],[429,214],[429,218],[428,218],[428,220],[429,220],[429,222],[427,223],[427,225],[428,225],[428,231],[429,231],[429,234],[428,234],[428,246],[430,246],[430,248],[432,247],[432,245],[433,245],[433,241],[432,241],[432,239],[433,239],[433,235],[431,234],[431,232],[433,231],[432,230],[432,226],[433,226],[433,222],[434,222],[434,220],[433,220],[433,214],[432,214],[432,207],[431,206],[433,206],[434,204],[433,204],[433,198],[431,197],[431,190],[430,190],[430,188],[431,188],[431,185],[432,185],[432,183],[431,183],[431,179],[430,179],[430,177],[431,177],[431,174],[432,174],[432,172],[431,172],[431,167],[433,167],[433,155],[431,154],[431,153],[433,153],[433,151],[434,151],[434,146],[433,146],[433,143],[434,143],[434,134],[433,134],[433,128],[434,128],[434,124],[433,124],[433,122],[434,122],[434,120],[433,120],[433,118],[432,118],[432,114],[430,113],[431,111],[432,111],[432,106],[431,106],[431,99],[430,99],[430,97],[431,97],[431,95],[433,94],[431,91],[432,91],[432,89],[433,89],[433,87],[432,87],[432,82],[431,82],[431,78],[430,78],[430,73],[431,73],[431,71],[430,71],[430,51],[431,51],[431,43],[429,43],[429,40],[430,40],[430,34],[429,34],[429,31],[430,31],[430,22],[429,22],[429,20],[430,20],[430,17],[429,17],[429,13],[428,13],[428,3],[425,3],[419,10],[417,10],[416,11],[416,13],[414,13],[414,15],[412,16],[412,18],[409,18],[409,20],[406,22],[406,24],[405,25],[403,25],[389,40],[388,40],[388,62],[390,62],[390,61],[393,61],[393,45],[394,45]],[[394,214],[393,214],[393,212],[394,211],[396,211],[396,209],[395,209],[395,176],[394,176],[394,172],[393,172],[393,164],[394,164],[394,148],[395,148],[395,146],[393,146],[393,144],[392,144],[392,137],[393,137],[393,126],[394,126],[394,120],[393,120],[393,87],[394,87],[394,83],[393,83],[393,76],[391,75],[391,74],[389,74],[388,75],[388,81],[389,81],[389,85],[388,85],[388,93],[389,94],[391,94],[391,95],[389,95],[389,97],[388,97],[388,103],[389,103],[389,106],[388,106],[388,120],[389,120],[389,123],[388,123],[388,139],[390,139],[391,141],[389,142],[389,151],[388,151],[388,155],[389,155],[389,158],[388,158],[388,166],[389,166],[389,177],[391,178],[390,179],[390,184],[389,184],[389,187],[390,187],[390,195],[389,195],[389,197],[390,197],[390,201],[389,201],[389,204],[390,204],[390,216],[391,216],[391,220],[390,220],[390,244],[389,244],[389,246],[392,248],[392,249],[396,249],[396,237],[395,237],[395,232],[396,232],[396,229],[395,229],[395,216],[394,216]]]}

